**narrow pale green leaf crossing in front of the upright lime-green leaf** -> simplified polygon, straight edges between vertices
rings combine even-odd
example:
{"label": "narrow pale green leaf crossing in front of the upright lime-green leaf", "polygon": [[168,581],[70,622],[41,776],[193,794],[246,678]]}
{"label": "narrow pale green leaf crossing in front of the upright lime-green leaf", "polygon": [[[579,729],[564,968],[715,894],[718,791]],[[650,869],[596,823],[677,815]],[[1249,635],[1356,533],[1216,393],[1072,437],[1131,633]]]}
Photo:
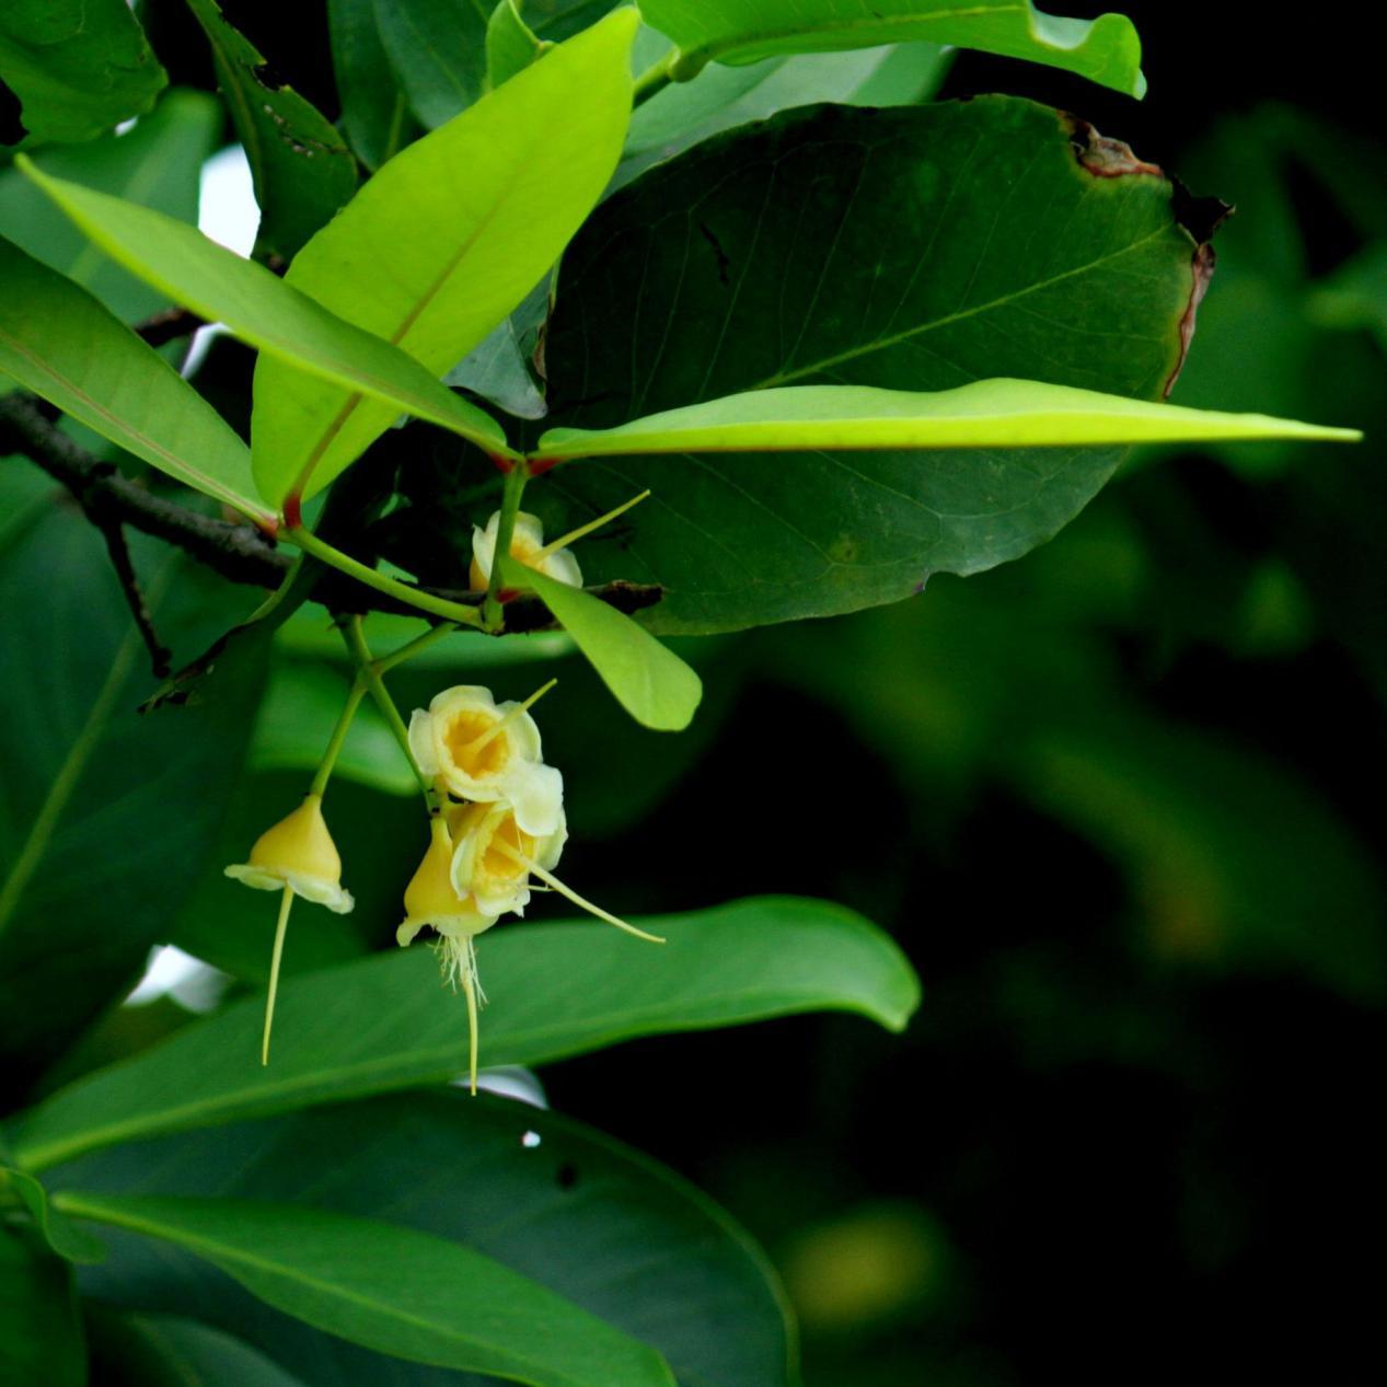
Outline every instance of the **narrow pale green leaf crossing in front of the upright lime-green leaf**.
{"label": "narrow pale green leaf crossing in front of the upright lime-green leaf", "polygon": [[47,178],[22,157],[21,166],[101,250],[175,302],[226,323],[262,352],[388,402],[391,413],[417,415],[481,448],[505,451],[494,419],[397,347],[343,322],[262,265],[172,218]]}

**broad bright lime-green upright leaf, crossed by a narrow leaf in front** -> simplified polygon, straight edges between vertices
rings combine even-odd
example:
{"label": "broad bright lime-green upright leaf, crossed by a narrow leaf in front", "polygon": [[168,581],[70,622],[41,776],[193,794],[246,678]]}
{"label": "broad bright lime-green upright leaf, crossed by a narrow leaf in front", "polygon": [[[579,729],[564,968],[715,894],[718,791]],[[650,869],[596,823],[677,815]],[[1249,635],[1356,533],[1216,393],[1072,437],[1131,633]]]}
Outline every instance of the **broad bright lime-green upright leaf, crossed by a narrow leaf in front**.
{"label": "broad bright lime-green upright leaf, crossed by a narrow leaf in front", "polygon": [[[634,31],[632,11],[612,15],[411,144],[304,247],[286,283],[444,374],[530,293],[612,176]],[[279,501],[311,469],[312,495],[397,412],[261,359],[261,492]]]}

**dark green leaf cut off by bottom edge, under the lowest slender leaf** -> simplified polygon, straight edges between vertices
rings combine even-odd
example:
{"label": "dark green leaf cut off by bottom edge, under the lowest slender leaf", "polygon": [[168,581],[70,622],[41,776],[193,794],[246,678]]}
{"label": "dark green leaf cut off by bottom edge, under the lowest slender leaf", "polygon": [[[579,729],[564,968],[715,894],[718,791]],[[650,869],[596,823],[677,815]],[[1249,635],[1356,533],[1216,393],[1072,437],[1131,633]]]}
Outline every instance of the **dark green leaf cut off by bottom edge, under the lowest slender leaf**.
{"label": "dark green leaf cut off by bottom edge, under the lowest slender leaf", "polygon": [[103,1387],[304,1387],[239,1338],[175,1315],[89,1307],[87,1341]]}

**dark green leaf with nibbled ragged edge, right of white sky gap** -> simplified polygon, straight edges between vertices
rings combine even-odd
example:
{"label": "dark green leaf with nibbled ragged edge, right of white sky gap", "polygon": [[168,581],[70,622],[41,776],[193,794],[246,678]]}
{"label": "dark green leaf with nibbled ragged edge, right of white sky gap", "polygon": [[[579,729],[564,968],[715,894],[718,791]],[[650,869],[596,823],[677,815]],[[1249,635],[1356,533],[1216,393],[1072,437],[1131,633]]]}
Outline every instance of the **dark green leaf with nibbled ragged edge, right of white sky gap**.
{"label": "dark green leaf with nibbled ragged edge, right of white sky gap", "polygon": [[226,22],[216,0],[187,0],[212,46],[261,208],[257,255],[288,259],[356,187],[356,161],[337,128],[291,86],[270,79],[264,55]]}

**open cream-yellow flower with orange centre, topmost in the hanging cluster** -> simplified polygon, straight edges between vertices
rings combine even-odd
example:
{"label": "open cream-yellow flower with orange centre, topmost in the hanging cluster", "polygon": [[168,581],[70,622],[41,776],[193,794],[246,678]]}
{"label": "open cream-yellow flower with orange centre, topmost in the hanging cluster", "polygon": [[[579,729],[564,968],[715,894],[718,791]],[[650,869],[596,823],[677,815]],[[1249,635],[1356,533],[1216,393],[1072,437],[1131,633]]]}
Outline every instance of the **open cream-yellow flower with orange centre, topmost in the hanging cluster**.
{"label": "open cream-yellow flower with orange centre, topmost in the hanging cluster", "polygon": [[427,712],[415,709],[409,749],[459,799],[508,800],[527,834],[553,834],[563,818],[563,777],[544,764],[540,728],[522,703],[497,703],[479,685],[444,689]]}

